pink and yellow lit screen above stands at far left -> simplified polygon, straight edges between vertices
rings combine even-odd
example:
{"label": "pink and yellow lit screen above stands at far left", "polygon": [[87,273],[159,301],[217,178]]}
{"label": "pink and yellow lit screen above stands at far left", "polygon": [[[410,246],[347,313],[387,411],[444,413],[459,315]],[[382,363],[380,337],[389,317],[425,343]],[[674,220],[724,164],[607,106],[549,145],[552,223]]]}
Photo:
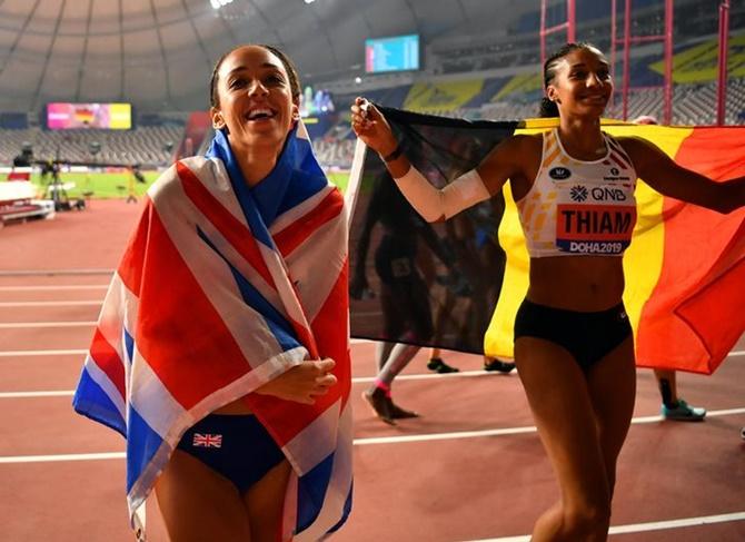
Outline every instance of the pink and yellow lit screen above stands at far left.
{"label": "pink and yellow lit screen above stands at far left", "polygon": [[131,104],[47,104],[47,128],[50,130],[129,130],[131,127]]}

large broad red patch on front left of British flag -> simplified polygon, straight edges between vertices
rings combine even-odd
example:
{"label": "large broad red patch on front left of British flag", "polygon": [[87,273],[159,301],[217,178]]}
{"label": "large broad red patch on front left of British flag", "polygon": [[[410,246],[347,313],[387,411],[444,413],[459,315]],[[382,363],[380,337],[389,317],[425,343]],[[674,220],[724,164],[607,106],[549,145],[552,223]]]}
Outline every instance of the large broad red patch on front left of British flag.
{"label": "large broad red patch on front left of British flag", "polygon": [[148,253],[142,270],[147,290],[139,303],[137,347],[176,401],[191,408],[251,367],[157,213],[147,242],[158,250]]}

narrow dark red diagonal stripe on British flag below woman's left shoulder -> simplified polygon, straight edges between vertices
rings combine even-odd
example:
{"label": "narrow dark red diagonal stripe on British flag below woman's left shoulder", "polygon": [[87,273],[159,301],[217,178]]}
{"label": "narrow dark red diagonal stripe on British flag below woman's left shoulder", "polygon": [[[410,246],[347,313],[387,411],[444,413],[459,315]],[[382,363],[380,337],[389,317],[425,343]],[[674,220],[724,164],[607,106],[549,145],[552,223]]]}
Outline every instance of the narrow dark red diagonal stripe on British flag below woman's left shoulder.
{"label": "narrow dark red diagonal stripe on British flag below woman's left shoulder", "polygon": [[205,188],[191,169],[179,161],[176,162],[176,170],[181,179],[183,191],[195,206],[220,230],[222,236],[261,275],[266,283],[277,289],[258,243],[248,227],[235,216],[225,211],[225,206]]}

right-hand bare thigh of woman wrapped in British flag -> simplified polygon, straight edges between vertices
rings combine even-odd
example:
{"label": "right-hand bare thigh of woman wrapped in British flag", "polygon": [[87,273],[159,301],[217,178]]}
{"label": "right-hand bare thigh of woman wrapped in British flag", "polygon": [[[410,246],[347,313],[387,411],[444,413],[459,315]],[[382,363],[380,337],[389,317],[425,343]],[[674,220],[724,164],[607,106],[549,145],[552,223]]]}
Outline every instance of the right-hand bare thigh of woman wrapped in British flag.
{"label": "right-hand bare thigh of woman wrapped in British flag", "polygon": [[251,525],[251,542],[275,542],[282,524],[282,509],[290,464],[282,460],[244,494]]}

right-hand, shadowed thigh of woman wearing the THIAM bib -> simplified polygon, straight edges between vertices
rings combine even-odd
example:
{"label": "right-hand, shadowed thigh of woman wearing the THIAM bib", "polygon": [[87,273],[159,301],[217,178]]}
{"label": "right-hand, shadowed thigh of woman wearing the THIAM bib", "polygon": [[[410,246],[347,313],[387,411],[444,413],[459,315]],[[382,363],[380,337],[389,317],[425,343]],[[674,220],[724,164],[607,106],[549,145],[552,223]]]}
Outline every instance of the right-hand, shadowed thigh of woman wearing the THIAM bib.
{"label": "right-hand, shadowed thigh of woman wearing the THIAM bib", "polygon": [[616,459],[628,433],[636,397],[634,339],[630,335],[590,367],[587,382],[603,455],[613,481]]}

